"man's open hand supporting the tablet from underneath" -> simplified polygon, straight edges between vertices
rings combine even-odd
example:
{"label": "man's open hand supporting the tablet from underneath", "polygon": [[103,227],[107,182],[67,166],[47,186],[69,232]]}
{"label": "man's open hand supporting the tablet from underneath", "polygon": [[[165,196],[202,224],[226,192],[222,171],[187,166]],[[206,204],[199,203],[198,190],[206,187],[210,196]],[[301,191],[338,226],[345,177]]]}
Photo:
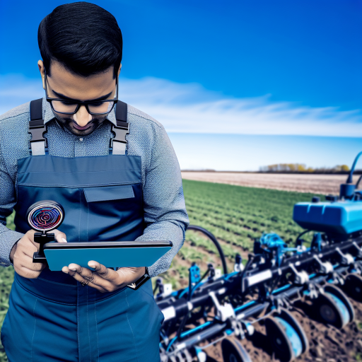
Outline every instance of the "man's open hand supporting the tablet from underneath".
{"label": "man's open hand supporting the tablet from underneath", "polygon": [[145,267],[119,268],[117,271],[106,268],[103,264],[91,260],[88,268],[82,268],[78,264],[71,263],[63,267],[62,271],[74,277],[77,281],[83,282],[101,293],[117,291],[124,286],[134,283],[146,272]]}

